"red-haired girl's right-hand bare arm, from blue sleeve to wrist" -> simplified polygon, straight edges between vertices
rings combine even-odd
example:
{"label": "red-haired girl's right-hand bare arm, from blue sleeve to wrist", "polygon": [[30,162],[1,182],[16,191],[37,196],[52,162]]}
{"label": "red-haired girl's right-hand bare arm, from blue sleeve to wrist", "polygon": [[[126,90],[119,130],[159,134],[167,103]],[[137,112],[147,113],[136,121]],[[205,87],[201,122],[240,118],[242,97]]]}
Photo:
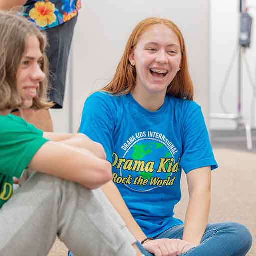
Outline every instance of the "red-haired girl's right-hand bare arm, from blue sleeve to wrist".
{"label": "red-haired girl's right-hand bare arm, from blue sleeve to wrist", "polygon": [[187,173],[189,202],[186,211],[183,240],[199,245],[210,209],[210,167],[195,169]]}

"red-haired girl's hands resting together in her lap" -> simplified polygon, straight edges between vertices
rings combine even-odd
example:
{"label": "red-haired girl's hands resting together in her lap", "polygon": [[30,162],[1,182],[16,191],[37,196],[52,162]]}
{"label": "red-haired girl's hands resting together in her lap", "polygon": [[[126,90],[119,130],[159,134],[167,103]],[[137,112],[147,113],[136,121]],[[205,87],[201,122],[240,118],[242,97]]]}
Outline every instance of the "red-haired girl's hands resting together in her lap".
{"label": "red-haired girl's hands resting together in her lap", "polygon": [[143,243],[144,248],[155,256],[178,256],[194,247],[180,239],[156,239]]}

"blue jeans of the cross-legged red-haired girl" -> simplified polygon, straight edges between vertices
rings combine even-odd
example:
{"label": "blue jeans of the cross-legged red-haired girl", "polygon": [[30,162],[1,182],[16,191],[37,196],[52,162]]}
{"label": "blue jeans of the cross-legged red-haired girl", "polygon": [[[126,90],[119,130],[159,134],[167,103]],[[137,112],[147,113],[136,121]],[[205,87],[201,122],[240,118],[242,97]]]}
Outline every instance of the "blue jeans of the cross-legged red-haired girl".
{"label": "blue jeans of the cross-legged red-haired girl", "polygon": [[[155,236],[154,239],[182,239],[183,229],[184,225],[174,226]],[[249,251],[251,244],[251,234],[247,227],[241,224],[234,222],[208,224],[200,245],[180,256],[244,256]],[[153,256],[143,248],[141,251],[145,256]],[[74,255],[69,252],[68,256]]]}

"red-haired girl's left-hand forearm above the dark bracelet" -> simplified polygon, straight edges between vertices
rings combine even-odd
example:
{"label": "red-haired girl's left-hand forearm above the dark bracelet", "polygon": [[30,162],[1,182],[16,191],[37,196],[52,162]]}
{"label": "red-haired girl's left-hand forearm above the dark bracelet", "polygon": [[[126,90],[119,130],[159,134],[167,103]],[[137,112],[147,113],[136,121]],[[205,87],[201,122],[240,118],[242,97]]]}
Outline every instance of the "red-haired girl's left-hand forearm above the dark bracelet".
{"label": "red-haired girl's left-hand forearm above the dark bracelet", "polygon": [[104,184],[101,189],[105,193],[108,200],[112,203],[116,211],[120,214],[129,231],[135,236],[135,238],[138,241],[145,239],[146,235],[143,233],[131,215],[116,185],[112,181],[109,181],[108,183]]}

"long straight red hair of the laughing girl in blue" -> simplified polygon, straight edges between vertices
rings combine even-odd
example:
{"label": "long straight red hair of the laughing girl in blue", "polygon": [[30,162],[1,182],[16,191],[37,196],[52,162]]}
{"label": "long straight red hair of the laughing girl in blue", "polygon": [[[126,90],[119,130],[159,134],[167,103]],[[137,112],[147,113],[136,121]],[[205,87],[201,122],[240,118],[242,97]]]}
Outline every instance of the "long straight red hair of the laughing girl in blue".
{"label": "long straight red hair of the laughing girl in blue", "polygon": [[113,79],[102,89],[111,94],[123,95],[132,91],[136,85],[136,69],[129,62],[129,54],[136,46],[142,33],[151,25],[164,24],[178,36],[181,48],[180,70],[168,86],[167,94],[177,98],[193,100],[193,83],[188,71],[187,55],[183,35],[179,28],[170,20],[164,18],[146,18],[139,22],[132,31],[122,58],[116,68]]}

